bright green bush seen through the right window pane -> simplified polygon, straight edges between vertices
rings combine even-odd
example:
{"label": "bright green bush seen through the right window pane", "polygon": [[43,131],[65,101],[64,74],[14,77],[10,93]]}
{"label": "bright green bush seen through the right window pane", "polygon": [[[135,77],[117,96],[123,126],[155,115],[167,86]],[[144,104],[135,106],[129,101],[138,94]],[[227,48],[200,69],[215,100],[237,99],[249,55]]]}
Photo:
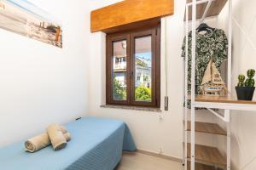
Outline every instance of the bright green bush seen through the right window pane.
{"label": "bright green bush seen through the right window pane", "polygon": [[135,90],[135,99],[141,101],[151,101],[151,88],[139,86]]}

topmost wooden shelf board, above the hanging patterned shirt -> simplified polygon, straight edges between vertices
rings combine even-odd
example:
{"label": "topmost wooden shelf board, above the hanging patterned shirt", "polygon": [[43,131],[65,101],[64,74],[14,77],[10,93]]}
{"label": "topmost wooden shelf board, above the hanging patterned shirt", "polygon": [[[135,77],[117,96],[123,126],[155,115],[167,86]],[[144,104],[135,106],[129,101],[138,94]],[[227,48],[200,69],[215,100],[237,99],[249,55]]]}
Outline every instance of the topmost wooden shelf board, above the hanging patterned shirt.
{"label": "topmost wooden shelf board, above the hanging patterned shirt", "polygon": [[[192,0],[187,0],[187,3],[191,3]],[[208,10],[208,13],[206,17],[212,17],[217,16],[221,10],[224,8],[224,5],[227,3],[227,0],[215,0],[212,1],[212,4]],[[192,7],[189,7],[189,20],[192,20]],[[201,19],[202,15],[205,12],[205,9],[207,8],[207,3],[201,3],[197,4],[196,7],[196,19]],[[184,21],[186,20],[186,17],[184,17]]]}

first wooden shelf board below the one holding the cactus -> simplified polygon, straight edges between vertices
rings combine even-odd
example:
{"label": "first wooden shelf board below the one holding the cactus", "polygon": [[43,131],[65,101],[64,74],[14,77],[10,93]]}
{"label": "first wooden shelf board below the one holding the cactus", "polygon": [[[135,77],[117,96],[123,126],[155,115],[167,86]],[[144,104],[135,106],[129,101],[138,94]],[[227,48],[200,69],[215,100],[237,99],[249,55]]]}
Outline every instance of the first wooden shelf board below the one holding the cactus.
{"label": "first wooden shelf board below the one holding the cactus", "polygon": [[[191,131],[191,122],[188,121],[188,131]],[[226,136],[227,133],[217,123],[209,122],[195,122],[195,132],[197,133],[211,133]]]}

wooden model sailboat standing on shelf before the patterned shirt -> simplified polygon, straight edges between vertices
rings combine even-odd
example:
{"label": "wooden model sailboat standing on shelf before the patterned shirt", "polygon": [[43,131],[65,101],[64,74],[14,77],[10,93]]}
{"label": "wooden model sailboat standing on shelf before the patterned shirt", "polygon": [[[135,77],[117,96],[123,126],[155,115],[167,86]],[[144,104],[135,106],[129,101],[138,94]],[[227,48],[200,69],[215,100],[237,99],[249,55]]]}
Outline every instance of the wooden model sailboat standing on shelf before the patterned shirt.
{"label": "wooden model sailboat standing on shelf before the patterned shirt", "polygon": [[212,59],[207,65],[207,70],[202,79],[201,91],[202,94],[208,95],[226,95],[229,93]]}

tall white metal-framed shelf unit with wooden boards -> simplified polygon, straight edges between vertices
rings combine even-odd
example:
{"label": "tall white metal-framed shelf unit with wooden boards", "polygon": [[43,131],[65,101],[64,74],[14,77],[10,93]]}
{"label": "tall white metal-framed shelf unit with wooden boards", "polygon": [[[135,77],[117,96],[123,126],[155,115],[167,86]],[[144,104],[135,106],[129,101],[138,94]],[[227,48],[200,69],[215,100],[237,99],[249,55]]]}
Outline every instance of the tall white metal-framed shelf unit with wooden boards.
{"label": "tall white metal-framed shelf unit with wooden boards", "polygon": [[[191,59],[191,77],[195,77],[195,43],[196,43],[196,22],[200,20],[200,24],[205,20],[206,17],[218,16],[224,5],[229,2],[229,50],[228,50],[228,77],[227,85],[228,90],[231,92],[231,42],[232,42],[232,0],[187,0],[185,10],[185,23],[186,23],[186,57],[185,57],[185,108],[183,111],[183,167],[185,170],[200,170],[200,169],[218,169],[219,167],[230,170],[230,108],[224,108],[228,102],[228,105],[232,107],[236,105],[247,105],[241,104],[236,99],[223,98],[213,99],[212,97],[195,96],[195,78],[191,78],[191,95],[187,94],[188,89],[188,37],[189,37],[189,20],[192,25],[192,59]],[[187,99],[191,99],[191,110],[190,118],[188,121],[188,110],[187,110]],[[224,101],[221,103],[220,101]],[[223,107],[219,107],[223,105]],[[252,106],[252,105],[251,105]],[[226,131],[219,127],[215,123],[207,122],[195,122],[195,108],[207,108],[215,116],[221,118],[226,122]],[[252,106],[253,107],[253,106]],[[224,115],[219,114],[212,109],[223,109]],[[190,144],[188,143],[188,133],[190,133]],[[213,135],[222,135],[227,138],[227,150],[226,156],[223,156],[218,148],[214,148],[207,145],[195,144],[195,133],[210,133]],[[188,162],[189,161],[189,162]],[[213,166],[213,167],[212,167]]]}

